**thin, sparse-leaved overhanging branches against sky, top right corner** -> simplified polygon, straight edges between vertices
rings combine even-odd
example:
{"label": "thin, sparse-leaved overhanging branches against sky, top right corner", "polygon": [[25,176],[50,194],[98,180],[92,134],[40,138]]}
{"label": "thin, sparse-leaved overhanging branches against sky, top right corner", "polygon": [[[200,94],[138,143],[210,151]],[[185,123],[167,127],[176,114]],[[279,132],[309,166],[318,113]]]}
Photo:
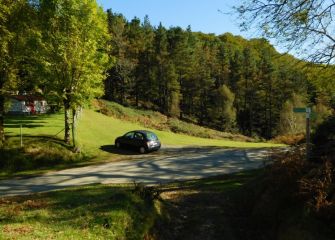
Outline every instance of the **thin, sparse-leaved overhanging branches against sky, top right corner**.
{"label": "thin, sparse-leaved overhanging branches against sky, top right corner", "polygon": [[334,63],[335,4],[327,0],[245,0],[236,7],[243,28],[258,27],[315,63]]}

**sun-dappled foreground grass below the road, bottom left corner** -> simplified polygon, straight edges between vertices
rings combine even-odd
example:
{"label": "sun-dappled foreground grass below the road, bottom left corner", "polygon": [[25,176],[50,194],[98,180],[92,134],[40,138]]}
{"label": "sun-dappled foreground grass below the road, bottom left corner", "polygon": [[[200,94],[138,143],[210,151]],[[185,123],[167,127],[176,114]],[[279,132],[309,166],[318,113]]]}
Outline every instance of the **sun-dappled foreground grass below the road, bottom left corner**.
{"label": "sun-dappled foreground grass below the road, bottom left corner", "polygon": [[0,199],[0,239],[143,239],[154,202],[131,186],[88,186]]}

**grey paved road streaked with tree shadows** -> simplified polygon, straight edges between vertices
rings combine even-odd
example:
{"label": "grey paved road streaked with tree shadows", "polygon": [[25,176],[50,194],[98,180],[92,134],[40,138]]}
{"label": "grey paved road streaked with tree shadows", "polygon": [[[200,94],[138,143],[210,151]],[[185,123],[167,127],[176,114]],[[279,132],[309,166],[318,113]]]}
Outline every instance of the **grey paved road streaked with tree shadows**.
{"label": "grey paved road streaked with tree shadows", "polygon": [[165,183],[262,167],[264,149],[165,148],[139,158],[51,172],[28,179],[0,181],[0,197],[23,195],[92,183]]}

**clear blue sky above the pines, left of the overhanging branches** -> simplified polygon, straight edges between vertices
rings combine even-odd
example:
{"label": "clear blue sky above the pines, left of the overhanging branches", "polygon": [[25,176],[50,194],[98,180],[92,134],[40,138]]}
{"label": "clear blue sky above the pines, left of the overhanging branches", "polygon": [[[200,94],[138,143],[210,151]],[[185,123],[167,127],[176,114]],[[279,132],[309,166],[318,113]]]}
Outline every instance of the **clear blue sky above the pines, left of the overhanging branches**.
{"label": "clear blue sky above the pines, left of the overhanging branches", "polygon": [[[186,28],[191,25],[193,31],[215,33],[217,35],[231,32],[246,38],[250,33],[240,32],[236,15],[225,14],[232,12],[231,7],[240,0],[98,0],[105,10],[122,13],[128,20],[138,17],[143,20],[149,16],[152,25],[179,26]],[[219,12],[221,10],[223,13]],[[255,37],[255,36],[252,36]]]}

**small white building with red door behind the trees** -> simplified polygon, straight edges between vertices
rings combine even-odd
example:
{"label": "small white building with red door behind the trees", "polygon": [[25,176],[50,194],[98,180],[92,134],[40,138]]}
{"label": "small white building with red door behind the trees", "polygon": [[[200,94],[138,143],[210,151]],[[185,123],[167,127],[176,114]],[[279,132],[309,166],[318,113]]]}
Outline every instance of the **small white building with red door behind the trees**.
{"label": "small white building with red door behind the trees", "polygon": [[44,114],[49,111],[47,101],[42,96],[12,95],[9,96],[9,114]]}

